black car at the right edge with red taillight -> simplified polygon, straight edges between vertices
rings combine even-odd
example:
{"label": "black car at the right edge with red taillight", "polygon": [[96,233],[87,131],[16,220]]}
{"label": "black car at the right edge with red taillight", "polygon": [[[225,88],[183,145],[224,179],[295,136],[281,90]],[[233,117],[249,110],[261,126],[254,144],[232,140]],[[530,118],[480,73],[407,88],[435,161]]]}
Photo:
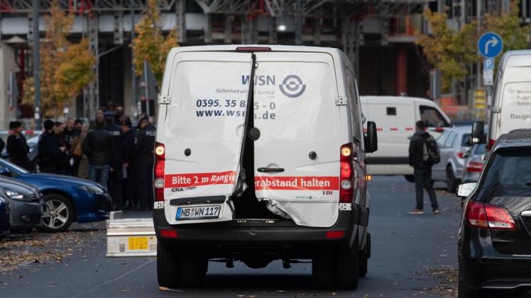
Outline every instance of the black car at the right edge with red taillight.
{"label": "black car at the right edge with red taillight", "polygon": [[459,297],[531,286],[531,129],[498,138],[467,197],[459,228]]}

